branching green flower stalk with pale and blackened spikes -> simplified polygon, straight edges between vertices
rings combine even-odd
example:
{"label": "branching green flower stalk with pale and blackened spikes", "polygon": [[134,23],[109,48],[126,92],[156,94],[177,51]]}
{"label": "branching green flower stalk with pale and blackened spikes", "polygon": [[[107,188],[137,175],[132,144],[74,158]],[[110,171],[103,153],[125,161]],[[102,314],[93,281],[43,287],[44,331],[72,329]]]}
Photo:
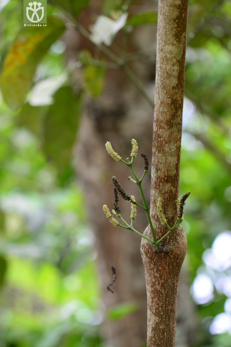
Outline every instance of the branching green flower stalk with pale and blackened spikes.
{"label": "branching green flower stalk with pale and blackened spikes", "polygon": [[[157,251],[160,251],[161,250],[160,243],[169,234],[171,234],[172,231],[176,230],[176,228],[183,221],[183,219],[184,219],[183,209],[184,209],[185,201],[186,201],[186,199],[187,199],[187,197],[189,196],[190,193],[187,192],[185,195],[182,196],[182,198],[180,200],[177,199],[177,218],[176,218],[175,224],[172,227],[170,227],[168,225],[166,217],[163,214],[163,210],[162,210],[162,206],[161,206],[161,197],[158,199],[157,211],[158,211],[158,215],[159,215],[160,221],[169,230],[163,237],[161,237],[159,240],[157,240],[157,237],[156,237],[156,234],[155,234],[155,231],[154,231],[154,227],[153,227],[153,223],[152,223],[152,220],[151,220],[151,217],[150,217],[150,213],[149,213],[149,206],[148,206],[148,204],[146,202],[146,199],[145,199],[145,196],[144,196],[144,193],[143,193],[143,189],[142,189],[142,186],[141,186],[142,180],[143,180],[146,172],[148,171],[148,167],[149,167],[148,157],[147,157],[146,154],[141,153],[141,156],[144,159],[144,172],[143,172],[143,175],[142,175],[141,179],[139,179],[137,177],[137,175],[136,175],[136,173],[135,173],[135,171],[133,169],[133,165],[132,165],[133,164],[133,159],[137,156],[138,145],[137,145],[137,142],[136,142],[136,140],[134,138],[132,139],[131,142],[132,142],[132,151],[131,151],[131,158],[132,159],[130,160],[129,158],[127,158],[126,161],[122,160],[121,156],[114,151],[114,149],[113,149],[113,147],[112,147],[112,145],[111,145],[111,143],[109,141],[106,142],[105,146],[106,146],[107,152],[112,156],[113,159],[115,159],[116,161],[123,162],[132,171],[134,179],[131,178],[131,176],[128,177],[128,179],[138,186],[140,194],[141,194],[141,198],[142,198],[142,201],[143,201],[143,206],[138,204],[135,201],[135,197],[133,195],[130,196],[127,193],[125,193],[124,189],[119,184],[119,181],[117,180],[117,178],[115,176],[113,176],[112,177],[112,182],[113,182],[113,185],[114,185],[114,196],[115,196],[115,199],[114,199],[114,202],[113,202],[114,210],[112,210],[112,213],[116,217],[118,217],[122,221],[123,224],[119,223],[112,216],[112,214],[110,213],[107,205],[103,206],[103,210],[104,210],[104,212],[106,214],[106,217],[110,220],[110,222],[115,227],[118,226],[118,227],[121,227],[121,228],[124,228],[124,229],[127,229],[127,230],[132,230],[133,232],[135,232],[136,234],[140,235],[141,237],[143,237],[146,240],[148,240],[151,244],[153,244],[153,246],[157,249]],[[131,214],[130,214],[131,223],[130,223],[130,225],[121,217],[121,211],[119,209],[119,203],[118,203],[119,202],[118,194],[121,195],[124,200],[131,202]],[[147,218],[148,218],[148,222],[149,222],[149,226],[150,226],[150,230],[151,230],[153,239],[150,239],[149,237],[146,237],[145,235],[141,234],[141,232],[139,232],[139,231],[137,231],[137,230],[135,230],[133,228],[133,221],[134,221],[134,219],[136,217],[136,206],[141,208],[141,209],[143,209],[143,210],[145,210]]]}

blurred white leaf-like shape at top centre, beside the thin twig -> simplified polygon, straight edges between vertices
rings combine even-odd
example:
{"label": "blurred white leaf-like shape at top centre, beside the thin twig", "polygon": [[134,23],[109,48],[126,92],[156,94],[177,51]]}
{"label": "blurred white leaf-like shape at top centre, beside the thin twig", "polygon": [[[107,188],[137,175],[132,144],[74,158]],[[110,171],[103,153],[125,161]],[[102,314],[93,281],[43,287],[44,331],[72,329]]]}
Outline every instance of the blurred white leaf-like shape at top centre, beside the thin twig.
{"label": "blurred white leaf-like shape at top centre, beside the thin twig", "polygon": [[126,12],[124,12],[117,20],[106,16],[99,16],[96,23],[91,28],[91,40],[95,44],[104,43],[106,46],[109,46],[118,31],[126,24],[126,20]]}

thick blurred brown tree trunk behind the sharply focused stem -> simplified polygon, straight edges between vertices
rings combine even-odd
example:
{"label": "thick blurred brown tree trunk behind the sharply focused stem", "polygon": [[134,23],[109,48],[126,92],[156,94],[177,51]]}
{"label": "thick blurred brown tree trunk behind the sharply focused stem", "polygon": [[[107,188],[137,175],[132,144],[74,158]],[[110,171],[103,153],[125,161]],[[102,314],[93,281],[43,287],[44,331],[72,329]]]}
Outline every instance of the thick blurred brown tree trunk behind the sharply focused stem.
{"label": "thick blurred brown tree trunk behind the sharply focused stem", "polygon": [[[99,276],[102,283],[106,310],[116,304],[135,302],[138,310],[127,318],[107,321],[105,336],[110,346],[141,346],[146,340],[146,291],[144,270],[139,252],[140,237],[113,227],[103,214],[102,206],[112,208],[114,200],[111,177],[115,175],[129,194],[137,196],[136,187],[127,180],[127,168],[115,162],[106,152],[105,143],[111,141],[113,147],[126,158],[131,152],[131,138],[136,138],[142,151],[151,158],[152,111],[142,96],[127,87],[126,78],[118,71],[108,73],[105,92],[98,101],[88,100],[80,130],[77,172],[83,183],[91,225],[96,236]],[[141,158],[142,159],[142,158]],[[137,160],[140,174],[143,162]],[[150,195],[150,180],[146,180],[146,195]],[[138,196],[137,196],[138,198]],[[122,213],[130,213],[130,204],[122,204]],[[137,223],[145,227],[146,215],[141,213]],[[118,232],[118,234],[117,234]],[[114,294],[106,286],[112,281],[111,266],[114,264],[117,280]]]}

